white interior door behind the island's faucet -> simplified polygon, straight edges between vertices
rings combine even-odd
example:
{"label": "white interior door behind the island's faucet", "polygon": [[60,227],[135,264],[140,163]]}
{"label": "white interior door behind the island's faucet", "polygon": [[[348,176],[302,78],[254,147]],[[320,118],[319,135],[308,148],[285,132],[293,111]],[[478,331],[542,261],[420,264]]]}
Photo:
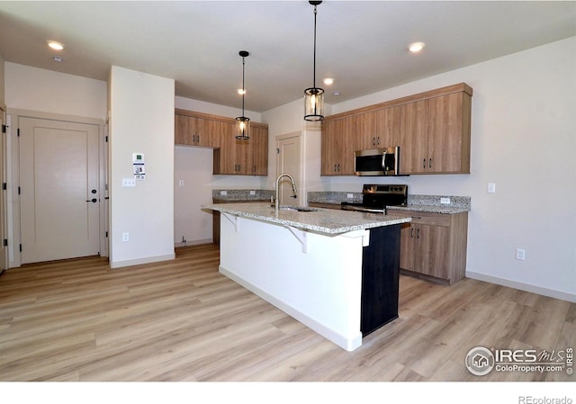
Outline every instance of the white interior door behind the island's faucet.
{"label": "white interior door behind the island's faucet", "polygon": [[283,178],[280,180],[278,202],[281,205],[302,205],[304,188],[301,176],[301,139],[302,136],[299,132],[276,138],[276,177],[284,173],[292,175],[298,192],[298,198],[294,199],[290,179]]}

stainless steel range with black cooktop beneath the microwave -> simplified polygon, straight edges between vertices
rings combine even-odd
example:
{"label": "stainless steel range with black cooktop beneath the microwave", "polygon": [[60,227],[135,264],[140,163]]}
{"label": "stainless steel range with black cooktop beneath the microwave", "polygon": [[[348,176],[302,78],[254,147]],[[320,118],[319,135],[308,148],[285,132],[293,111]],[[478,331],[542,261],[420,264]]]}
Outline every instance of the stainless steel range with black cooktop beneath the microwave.
{"label": "stainless steel range with black cooktop beneath the microwave", "polygon": [[386,206],[406,206],[408,185],[365,184],[362,187],[362,202],[342,202],[344,211],[369,211],[386,214]]}

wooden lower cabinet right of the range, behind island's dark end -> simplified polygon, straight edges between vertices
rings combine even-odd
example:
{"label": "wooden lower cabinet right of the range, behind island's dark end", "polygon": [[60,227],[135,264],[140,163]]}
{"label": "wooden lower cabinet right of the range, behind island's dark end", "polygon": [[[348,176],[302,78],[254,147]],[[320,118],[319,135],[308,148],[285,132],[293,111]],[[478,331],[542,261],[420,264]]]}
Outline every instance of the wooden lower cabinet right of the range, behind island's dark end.
{"label": "wooden lower cabinet right of the range, behind island's dark end", "polygon": [[401,229],[400,267],[407,274],[452,284],[466,271],[468,213],[388,211],[411,217]]}

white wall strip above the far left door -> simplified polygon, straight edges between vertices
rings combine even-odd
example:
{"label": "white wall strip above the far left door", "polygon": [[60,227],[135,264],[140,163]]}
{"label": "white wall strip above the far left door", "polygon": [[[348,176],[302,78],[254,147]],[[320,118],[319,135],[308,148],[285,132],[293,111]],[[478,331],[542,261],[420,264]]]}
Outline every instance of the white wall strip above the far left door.
{"label": "white wall strip above the far left door", "polygon": [[106,82],[5,62],[8,108],[106,119]]}

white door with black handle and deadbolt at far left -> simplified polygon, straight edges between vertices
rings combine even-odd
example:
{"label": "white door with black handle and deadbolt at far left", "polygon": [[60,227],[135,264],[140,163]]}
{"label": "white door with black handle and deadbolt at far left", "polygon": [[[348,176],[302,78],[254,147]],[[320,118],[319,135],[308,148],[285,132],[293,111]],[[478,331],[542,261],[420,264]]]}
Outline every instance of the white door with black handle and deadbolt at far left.
{"label": "white door with black handle and deadbolt at far left", "polygon": [[98,126],[20,118],[22,263],[99,252]]}

